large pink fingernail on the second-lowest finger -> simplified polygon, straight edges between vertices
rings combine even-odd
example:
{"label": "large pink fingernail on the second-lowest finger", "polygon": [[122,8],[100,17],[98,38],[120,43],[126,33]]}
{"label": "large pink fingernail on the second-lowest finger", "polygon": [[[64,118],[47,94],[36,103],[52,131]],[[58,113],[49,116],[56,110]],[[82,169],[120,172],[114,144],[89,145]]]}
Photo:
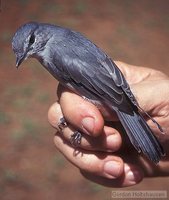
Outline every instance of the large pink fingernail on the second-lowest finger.
{"label": "large pink fingernail on the second-lowest finger", "polygon": [[120,163],[117,161],[108,161],[104,165],[104,173],[108,178],[118,178],[120,169]]}

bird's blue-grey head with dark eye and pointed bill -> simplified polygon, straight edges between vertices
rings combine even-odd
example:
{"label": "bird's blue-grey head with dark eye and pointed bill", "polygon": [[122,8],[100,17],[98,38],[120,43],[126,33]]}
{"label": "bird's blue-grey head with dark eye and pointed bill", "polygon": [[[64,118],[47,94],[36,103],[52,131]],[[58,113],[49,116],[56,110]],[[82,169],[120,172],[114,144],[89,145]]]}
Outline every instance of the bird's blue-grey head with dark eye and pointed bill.
{"label": "bird's blue-grey head with dark eye and pointed bill", "polygon": [[48,40],[40,24],[30,22],[21,26],[13,36],[12,48],[16,55],[16,67],[28,57],[36,57]]}

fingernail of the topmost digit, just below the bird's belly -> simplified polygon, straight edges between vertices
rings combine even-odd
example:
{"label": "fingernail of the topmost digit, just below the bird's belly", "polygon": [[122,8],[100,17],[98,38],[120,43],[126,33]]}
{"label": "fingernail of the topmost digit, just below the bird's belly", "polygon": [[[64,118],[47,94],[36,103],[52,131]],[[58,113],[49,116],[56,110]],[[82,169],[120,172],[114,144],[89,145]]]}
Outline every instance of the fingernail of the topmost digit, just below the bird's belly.
{"label": "fingernail of the topmost digit, just below the bird's belly", "polygon": [[93,133],[95,120],[92,117],[86,117],[82,120],[82,128],[87,134]]}

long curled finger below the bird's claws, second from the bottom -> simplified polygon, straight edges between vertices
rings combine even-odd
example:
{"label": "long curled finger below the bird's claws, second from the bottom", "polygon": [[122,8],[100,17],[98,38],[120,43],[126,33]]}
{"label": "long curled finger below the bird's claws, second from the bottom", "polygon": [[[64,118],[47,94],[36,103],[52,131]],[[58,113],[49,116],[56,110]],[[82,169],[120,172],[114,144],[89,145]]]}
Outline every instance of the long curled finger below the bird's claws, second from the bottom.
{"label": "long curled finger below the bird's claws, second from the bottom", "polygon": [[54,137],[54,143],[70,162],[83,171],[108,179],[116,179],[123,173],[123,161],[117,156],[103,152],[92,154],[82,149],[75,151],[58,133]]}

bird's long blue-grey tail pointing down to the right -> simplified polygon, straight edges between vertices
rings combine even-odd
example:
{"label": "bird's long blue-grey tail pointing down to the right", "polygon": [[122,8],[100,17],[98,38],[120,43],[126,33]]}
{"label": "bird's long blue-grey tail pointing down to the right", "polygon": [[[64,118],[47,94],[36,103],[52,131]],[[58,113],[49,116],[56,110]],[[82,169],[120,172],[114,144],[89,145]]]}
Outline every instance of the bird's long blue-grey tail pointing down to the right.
{"label": "bird's long blue-grey tail pointing down to the right", "polygon": [[165,153],[144,118],[137,111],[130,115],[118,110],[117,115],[137,151],[143,152],[154,163],[158,163]]}

